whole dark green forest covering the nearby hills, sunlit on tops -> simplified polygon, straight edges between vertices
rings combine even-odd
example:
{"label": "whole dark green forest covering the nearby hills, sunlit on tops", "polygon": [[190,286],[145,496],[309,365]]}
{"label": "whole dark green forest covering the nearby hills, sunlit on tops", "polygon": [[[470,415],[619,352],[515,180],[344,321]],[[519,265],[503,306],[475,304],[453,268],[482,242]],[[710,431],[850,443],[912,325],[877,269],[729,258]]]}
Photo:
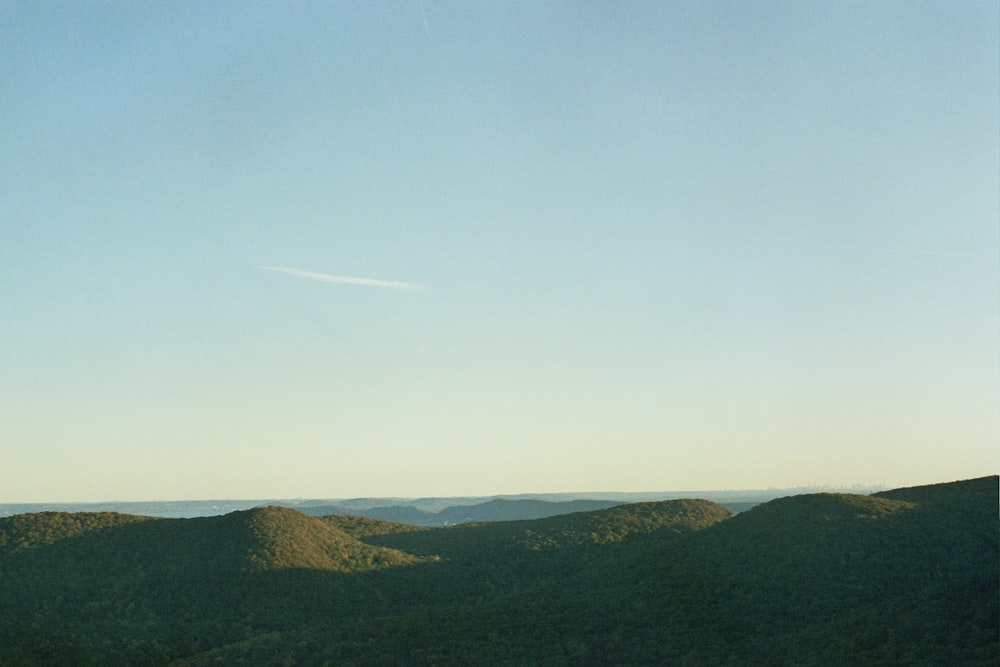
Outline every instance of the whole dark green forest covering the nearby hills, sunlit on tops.
{"label": "whole dark green forest covering the nearby hills, sunlit on tops", "polygon": [[732,515],[0,519],[0,665],[996,665],[996,476]]}

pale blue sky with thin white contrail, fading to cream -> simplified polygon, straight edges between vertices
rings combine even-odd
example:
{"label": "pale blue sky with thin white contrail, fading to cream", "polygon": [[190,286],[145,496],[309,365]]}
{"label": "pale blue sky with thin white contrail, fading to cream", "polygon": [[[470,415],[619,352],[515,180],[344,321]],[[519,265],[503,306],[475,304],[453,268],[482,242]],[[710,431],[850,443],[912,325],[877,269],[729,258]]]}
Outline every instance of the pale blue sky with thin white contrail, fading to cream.
{"label": "pale blue sky with thin white contrail, fading to cream", "polygon": [[998,19],[0,2],[0,502],[996,474]]}

